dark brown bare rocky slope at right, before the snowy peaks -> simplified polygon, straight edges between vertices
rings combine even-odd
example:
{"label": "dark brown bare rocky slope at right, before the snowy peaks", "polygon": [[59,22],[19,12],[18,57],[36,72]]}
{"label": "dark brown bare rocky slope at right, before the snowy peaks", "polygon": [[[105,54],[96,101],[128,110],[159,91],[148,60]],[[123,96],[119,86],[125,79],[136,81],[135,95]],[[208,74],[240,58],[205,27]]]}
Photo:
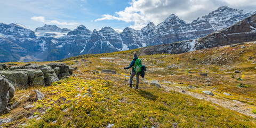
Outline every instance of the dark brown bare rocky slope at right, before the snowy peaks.
{"label": "dark brown bare rocky slope at right, before the snowy peaks", "polygon": [[256,14],[199,39],[181,41],[141,49],[141,54],[179,54],[210,47],[256,41]]}

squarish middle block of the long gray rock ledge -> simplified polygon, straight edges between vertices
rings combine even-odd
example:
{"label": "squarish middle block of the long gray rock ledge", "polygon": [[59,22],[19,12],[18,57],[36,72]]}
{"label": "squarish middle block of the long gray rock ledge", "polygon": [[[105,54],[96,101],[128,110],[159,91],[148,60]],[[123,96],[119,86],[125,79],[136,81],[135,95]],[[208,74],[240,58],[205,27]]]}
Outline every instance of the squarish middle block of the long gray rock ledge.
{"label": "squarish middle block of the long gray rock ledge", "polygon": [[[33,65],[30,65],[33,66]],[[18,69],[18,71],[28,72],[28,84],[29,85],[41,85],[44,86],[44,74],[39,69]]]}

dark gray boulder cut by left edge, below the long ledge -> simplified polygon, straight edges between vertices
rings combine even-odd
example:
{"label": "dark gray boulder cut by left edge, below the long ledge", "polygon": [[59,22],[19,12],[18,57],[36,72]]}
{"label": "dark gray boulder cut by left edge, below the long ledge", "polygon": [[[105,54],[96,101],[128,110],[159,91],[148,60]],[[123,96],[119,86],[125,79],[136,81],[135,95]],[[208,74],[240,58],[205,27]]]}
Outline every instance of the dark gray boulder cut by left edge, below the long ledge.
{"label": "dark gray boulder cut by left edge, below the long ledge", "polygon": [[8,80],[0,75],[0,114],[8,110],[7,104],[10,99],[9,90],[11,89]]}

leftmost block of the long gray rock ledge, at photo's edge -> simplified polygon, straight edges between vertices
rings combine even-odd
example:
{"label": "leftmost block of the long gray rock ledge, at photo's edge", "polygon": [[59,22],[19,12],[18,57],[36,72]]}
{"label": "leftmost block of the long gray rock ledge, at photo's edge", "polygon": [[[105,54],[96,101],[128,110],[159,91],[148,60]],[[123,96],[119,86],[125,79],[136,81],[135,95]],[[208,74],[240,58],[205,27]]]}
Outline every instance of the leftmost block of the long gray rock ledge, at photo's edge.
{"label": "leftmost block of the long gray rock ledge, at photo's edge", "polygon": [[18,70],[10,70],[4,71],[1,70],[0,74],[4,75],[7,79],[9,79],[14,86],[27,86],[28,84],[28,72],[27,71],[18,71]]}

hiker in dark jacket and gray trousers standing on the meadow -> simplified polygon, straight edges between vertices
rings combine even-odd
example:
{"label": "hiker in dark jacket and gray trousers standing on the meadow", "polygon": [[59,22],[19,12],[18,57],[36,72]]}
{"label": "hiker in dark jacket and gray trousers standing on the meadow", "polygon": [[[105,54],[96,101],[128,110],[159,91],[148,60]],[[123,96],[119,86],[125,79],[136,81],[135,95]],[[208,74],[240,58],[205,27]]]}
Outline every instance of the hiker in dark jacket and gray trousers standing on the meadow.
{"label": "hiker in dark jacket and gray trousers standing on the meadow", "polygon": [[[136,66],[140,67],[140,69],[138,71],[135,71]],[[138,59],[137,53],[134,53],[132,62],[130,63],[130,66],[126,67],[124,69],[129,69],[131,67],[132,67],[132,73],[131,73],[131,76],[130,76],[130,87],[132,88],[132,79],[133,79],[133,76],[136,75],[136,87],[135,87],[135,89],[138,89],[139,77],[140,77],[140,73],[141,73],[141,61],[140,61],[140,59]]]}

